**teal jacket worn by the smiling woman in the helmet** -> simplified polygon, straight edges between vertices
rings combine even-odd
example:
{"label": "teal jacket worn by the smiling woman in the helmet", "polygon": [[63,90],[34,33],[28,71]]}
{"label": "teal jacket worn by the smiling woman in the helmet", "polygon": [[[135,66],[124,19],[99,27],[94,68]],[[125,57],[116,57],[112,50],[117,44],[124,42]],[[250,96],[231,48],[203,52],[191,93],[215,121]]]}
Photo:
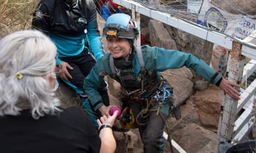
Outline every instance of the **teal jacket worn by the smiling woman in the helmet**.
{"label": "teal jacket worn by the smiling woman in the helmet", "polygon": [[[184,66],[193,69],[196,74],[199,74],[201,77],[213,84],[218,83],[222,78],[221,75],[216,75],[217,73],[213,68],[192,54],[180,52],[179,50],[166,50],[164,48],[150,47],[149,45],[141,46],[141,50],[146,70],[148,72],[156,71],[157,77],[159,78],[160,72],[163,72],[164,70],[181,68]],[[84,80],[83,88],[85,89],[86,95],[95,110],[104,105],[102,103],[101,96],[97,91],[97,89],[100,89],[104,76],[109,75],[111,78],[115,79],[111,72],[109,59],[110,53],[105,54],[100,58],[92,68],[90,74],[88,74]],[[140,84],[140,64],[137,54],[132,65],[135,72],[135,78],[137,78],[136,81]],[[145,95],[142,94],[141,97],[144,96]]]}

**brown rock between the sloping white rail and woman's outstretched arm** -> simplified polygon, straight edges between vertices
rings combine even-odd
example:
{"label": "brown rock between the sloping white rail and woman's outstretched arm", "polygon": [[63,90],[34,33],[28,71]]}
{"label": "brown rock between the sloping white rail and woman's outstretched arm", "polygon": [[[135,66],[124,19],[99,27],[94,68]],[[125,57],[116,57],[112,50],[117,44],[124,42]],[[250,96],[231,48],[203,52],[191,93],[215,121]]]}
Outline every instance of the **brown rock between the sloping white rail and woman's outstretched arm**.
{"label": "brown rock between the sloping white rail and woman's outstretched arm", "polygon": [[206,63],[210,63],[213,43],[153,19],[149,20],[148,28],[152,46],[177,49],[185,53],[191,53],[203,59]]}

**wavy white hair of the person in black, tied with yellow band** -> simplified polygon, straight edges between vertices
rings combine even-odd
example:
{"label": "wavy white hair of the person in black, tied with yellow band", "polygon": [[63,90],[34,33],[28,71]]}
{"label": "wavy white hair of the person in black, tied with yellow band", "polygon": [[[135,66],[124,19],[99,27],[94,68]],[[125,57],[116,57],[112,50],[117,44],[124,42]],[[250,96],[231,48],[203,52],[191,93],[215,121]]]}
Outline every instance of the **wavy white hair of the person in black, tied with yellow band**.
{"label": "wavy white hair of the person in black, tied with yellow band", "polygon": [[21,30],[0,40],[0,116],[18,115],[24,106],[35,119],[60,111],[46,79],[56,54],[55,44],[37,30]]}

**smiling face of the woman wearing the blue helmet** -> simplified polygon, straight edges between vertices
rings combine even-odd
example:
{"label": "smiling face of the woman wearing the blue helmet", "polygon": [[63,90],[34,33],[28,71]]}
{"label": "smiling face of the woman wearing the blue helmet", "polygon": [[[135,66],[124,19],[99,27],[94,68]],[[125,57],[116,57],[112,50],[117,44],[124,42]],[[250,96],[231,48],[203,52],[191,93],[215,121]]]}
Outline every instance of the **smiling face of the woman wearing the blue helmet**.
{"label": "smiling face of the woman wearing the blue helmet", "polygon": [[129,40],[126,38],[107,38],[107,48],[113,58],[124,58],[129,55],[131,50],[131,45]]}

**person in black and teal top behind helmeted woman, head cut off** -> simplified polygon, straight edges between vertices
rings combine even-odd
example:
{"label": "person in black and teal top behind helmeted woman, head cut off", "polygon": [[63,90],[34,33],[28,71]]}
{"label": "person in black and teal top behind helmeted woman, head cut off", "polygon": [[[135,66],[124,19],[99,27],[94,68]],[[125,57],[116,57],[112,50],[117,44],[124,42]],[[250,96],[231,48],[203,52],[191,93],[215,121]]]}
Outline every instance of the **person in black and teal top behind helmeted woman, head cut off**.
{"label": "person in black and teal top behind helmeted woman, head cut off", "polygon": [[[86,95],[83,94],[83,79],[96,60],[104,55],[94,2],[40,0],[33,13],[32,28],[48,35],[55,43],[58,53],[56,65],[61,65],[58,78],[79,91],[77,94],[80,94],[81,103],[97,127],[96,119],[100,118],[101,114],[92,110]],[[105,105],[109,105],[107,84],[103,80],[99,92]]]}

